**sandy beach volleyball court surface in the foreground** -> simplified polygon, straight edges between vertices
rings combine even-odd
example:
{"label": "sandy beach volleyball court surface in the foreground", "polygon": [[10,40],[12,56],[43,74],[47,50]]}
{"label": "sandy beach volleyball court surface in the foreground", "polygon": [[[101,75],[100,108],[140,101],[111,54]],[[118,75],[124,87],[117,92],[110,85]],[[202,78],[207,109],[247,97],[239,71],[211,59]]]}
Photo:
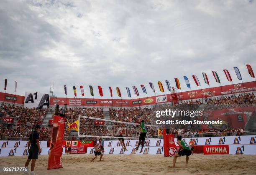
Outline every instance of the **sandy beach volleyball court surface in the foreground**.
{"label": "sandy beach volleyball court surface in the foreground", "polygon": [[[177,159],[176,168],[171,168],[173,158],[163,155],[104,155],[90,162],[93,155],[63,155],[64,168],[46,170],[48,155],[37,160],[35,173],[45,174],[108,174],[108,175],[152,175],[152,174],[256,174],[256,155],[202,155],[189,157],[189,165],[184,167],[185,157]],[[0,158],[0,174],[23,174],[3,172],[3,167],[23,167],[25,156]],[[30,169],[30,167],[29,167]]]}

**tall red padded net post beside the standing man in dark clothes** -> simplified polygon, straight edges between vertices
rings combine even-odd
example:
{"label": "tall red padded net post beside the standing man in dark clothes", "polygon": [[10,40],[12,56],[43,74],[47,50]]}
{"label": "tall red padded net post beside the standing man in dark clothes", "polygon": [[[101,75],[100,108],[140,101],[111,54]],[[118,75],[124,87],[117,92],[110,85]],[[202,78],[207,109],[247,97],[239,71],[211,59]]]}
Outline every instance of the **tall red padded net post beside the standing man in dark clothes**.
{"label": "tall red padded net post beside the standing man in dark clothes", "polygon": [[47,170],[62,168],[61,155],[62,155],[62,144],[63,144],[65,120],[66,119],[64,117],[61,117],[59,115],[54,115]]}

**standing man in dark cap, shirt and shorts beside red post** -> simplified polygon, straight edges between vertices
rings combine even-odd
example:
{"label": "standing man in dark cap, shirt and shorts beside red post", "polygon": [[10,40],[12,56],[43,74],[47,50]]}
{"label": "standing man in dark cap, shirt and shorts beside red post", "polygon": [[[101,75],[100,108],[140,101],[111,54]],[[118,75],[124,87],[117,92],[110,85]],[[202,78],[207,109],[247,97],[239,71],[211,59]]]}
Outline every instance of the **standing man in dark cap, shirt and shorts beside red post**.
{"label": "standing man in dark cap, shirt and shorts beside red post", "polygon": [[25,168],[27,169],[24,174],[28,174],[28,165],[32,159],[31,163],[31,175],[34,174],[34,168],[36,165],[36,159],[38,159],[38,153],[41,153],[40,143],[39,143],[39,125],[36,125],[33,132],[29,136],[28,140],[28,160],[26,161]]}

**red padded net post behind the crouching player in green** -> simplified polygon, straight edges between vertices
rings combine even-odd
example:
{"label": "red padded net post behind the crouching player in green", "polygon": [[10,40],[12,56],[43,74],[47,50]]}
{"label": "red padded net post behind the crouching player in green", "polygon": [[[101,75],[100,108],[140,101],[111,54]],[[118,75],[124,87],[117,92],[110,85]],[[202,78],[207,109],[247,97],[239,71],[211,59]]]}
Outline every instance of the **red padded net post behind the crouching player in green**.
{"label": "red padded net post behind the crouching player in green", "polygon": [[173,157],[177,153],[177,148],[174,142],[174,134],[166,134],[166,130],[163,132],[164,136],[164,157]]}

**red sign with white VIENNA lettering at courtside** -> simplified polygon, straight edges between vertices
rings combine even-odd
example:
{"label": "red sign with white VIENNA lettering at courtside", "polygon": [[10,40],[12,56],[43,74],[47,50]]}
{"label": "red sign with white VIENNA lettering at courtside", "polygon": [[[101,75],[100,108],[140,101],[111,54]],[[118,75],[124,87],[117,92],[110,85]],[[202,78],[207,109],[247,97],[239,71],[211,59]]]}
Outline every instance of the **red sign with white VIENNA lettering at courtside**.
{"label": "red sign with white VIENNA lettering at courtside", "polygon": [[228,145],[204,145],[204,154],[229,154]]}

